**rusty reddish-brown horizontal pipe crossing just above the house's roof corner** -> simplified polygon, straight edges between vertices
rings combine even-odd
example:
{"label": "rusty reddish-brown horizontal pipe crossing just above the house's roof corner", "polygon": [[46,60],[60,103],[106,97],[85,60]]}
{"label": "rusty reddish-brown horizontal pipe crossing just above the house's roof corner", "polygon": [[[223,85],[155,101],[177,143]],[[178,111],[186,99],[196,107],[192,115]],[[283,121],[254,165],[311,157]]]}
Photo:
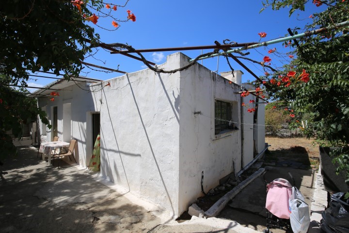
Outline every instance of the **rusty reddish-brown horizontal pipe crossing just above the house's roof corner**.
{"label": "rusty reddish-brown horizontal pipe crossing just above the house's roof corner", "polygon": [[[203,45],[203,46],[190,46],[190,47],[172,47],[172,48],[158,48],[158,49],[143,49],[143,50],[121,50],[121,52],[164,52],[164,51],[177,51],[177,50],[206,50],[206,49],[224,49],[224,48],[234,48],[234,47],[247,47],[250,45],[258,44],[257,42],[250,43],[237,43],[229,45]],[[120,52],[111,52],[120,53]]]}

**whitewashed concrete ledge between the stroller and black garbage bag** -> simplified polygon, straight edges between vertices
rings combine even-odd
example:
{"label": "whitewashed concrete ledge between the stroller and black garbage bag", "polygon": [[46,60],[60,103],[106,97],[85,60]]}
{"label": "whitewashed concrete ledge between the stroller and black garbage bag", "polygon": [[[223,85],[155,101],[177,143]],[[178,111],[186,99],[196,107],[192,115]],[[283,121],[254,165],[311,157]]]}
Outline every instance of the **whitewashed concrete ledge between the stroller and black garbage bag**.
{"label": "whitewashed concrete ledge between the stroller and black garbage bag", "polygon": [[310,226],[308,233],[320,233],[321,213],[327,206],[327,191],[321,176],[321,167],[317,172],[317,180],[310,209]]}

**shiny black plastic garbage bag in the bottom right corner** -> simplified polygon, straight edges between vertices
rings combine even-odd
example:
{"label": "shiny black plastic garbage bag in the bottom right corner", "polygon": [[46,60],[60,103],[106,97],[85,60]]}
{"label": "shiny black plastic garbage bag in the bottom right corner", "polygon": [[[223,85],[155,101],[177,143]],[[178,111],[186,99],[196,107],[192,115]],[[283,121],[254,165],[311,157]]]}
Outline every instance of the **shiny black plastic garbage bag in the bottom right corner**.
{"label": "shiny black plastic garbage bag in the bottom right corner", "polygon": [[330,207],[322,212],[321,233],[349,233],[349,200],[344,195],[331,196]]}

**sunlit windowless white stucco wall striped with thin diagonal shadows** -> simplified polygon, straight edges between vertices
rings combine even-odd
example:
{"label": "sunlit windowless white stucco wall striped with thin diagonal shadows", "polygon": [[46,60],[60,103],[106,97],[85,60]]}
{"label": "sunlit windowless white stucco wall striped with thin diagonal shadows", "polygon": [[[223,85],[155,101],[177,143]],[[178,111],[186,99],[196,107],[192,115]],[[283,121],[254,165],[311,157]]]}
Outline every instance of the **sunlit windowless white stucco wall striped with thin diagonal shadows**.
{"label": "sunlit windowless white stucco wall striped with thin diagonal shadows", "polygon": [[[159,67],[178,68],[179,56],[168,56]],[[91,87],[102,89],[94,96],[101,113],[101,174],[173,216],[178,215],[179,81],[179,73],[145,69]]]}

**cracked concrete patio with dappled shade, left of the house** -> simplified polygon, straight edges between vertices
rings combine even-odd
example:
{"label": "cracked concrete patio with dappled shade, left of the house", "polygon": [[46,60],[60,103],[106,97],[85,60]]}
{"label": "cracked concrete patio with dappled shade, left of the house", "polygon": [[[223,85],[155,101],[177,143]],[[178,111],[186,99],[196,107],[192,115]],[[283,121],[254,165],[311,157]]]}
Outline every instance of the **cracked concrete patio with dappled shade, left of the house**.
{"label": "cracked concrete patio with dappled shade, left of the house", "polygon": [[160,218],[96,182],[85,169],[48,166],[20,148],[0,167],[0,232],[148,232]]}

